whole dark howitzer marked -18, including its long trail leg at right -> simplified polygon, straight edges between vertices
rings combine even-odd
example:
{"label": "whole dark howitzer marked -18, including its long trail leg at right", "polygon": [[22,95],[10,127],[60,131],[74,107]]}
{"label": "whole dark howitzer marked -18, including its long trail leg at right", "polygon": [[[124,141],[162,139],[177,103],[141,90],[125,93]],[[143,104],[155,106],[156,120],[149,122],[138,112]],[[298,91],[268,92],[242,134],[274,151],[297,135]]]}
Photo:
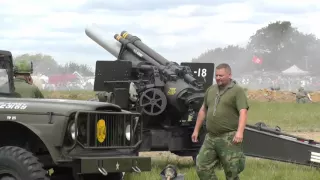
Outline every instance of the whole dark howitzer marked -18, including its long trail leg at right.
{"label": "whole dark howitzer marked -18, including its long trail leg at right", "polygon": [[[125,31],[116,34],[116,40],[105,38],[93,26],[86,34],[117,58],[97,61],[94,89],[112,96],[102,99],[141,112],[143,142],[139,150],[195,157],[205,133],[200,132],[199,143],[191,141],[191,134],[204,92],[213,83],[214,64],[178,65]],[[247,125],[244,139],[247,156],[320,167],[320,143],[285,134],[280,127]]]}

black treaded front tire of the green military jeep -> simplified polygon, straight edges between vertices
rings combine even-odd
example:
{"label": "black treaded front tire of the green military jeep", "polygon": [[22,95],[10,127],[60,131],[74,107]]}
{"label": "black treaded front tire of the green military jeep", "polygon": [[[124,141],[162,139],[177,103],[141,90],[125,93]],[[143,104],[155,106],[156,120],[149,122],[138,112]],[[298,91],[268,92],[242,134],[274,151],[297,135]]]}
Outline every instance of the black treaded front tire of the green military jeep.
{"label": "black treaded front tire of the green military jeep", "polygon": [[20,147],[4,146],[0,148],[1,170],[13,171],[23,180],[50,180],[38,158]]}

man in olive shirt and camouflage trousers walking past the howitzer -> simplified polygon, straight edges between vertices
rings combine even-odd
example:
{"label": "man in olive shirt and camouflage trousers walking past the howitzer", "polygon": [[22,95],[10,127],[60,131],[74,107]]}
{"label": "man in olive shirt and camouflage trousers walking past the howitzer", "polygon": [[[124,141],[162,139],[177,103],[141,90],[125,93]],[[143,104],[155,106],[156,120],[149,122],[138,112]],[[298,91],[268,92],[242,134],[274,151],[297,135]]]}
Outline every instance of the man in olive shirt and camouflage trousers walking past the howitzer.
{"label": "man in olive shirt and camouflage trousers walking past the howitzer", "polygon": [[217,84],[210,86],[198,113],[192,141],[206,119],[207,134],[196,159],[200,180],[216,180],[214,167],[220,163],[227,180],[238,180],[244,170],[243,133],[249,109],[247,96],[231,78],[228,64],[216,67]]}

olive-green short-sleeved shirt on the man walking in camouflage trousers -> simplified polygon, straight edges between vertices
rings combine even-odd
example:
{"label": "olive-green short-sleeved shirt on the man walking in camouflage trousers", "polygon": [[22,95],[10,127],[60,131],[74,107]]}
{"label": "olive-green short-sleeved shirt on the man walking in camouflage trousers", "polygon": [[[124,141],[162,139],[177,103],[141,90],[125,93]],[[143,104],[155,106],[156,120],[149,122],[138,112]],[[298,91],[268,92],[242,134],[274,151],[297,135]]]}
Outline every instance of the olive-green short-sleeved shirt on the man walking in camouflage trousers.
{"label": "olive-green short-sleeved shirt on the man walking in camouflage trousers", "polygon": [[210,86],[204,97],[207,107],[206,127],[213,135],[237,131],[241,109],[249,109],[246,93],[232,81],[224,90]]}

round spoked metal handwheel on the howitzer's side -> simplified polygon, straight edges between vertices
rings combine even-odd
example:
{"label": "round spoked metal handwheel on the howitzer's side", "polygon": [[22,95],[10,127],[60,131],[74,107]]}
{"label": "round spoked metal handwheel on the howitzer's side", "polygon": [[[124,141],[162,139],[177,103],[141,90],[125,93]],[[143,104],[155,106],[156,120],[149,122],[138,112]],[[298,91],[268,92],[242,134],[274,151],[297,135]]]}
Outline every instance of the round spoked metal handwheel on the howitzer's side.
{"label": "round spoked metal handwheel on the howitzer's side", "polygon": [[167,97],[160,89],[150,88],[140,96],[142,111],[150,116],[161,114],[167,106]]}

